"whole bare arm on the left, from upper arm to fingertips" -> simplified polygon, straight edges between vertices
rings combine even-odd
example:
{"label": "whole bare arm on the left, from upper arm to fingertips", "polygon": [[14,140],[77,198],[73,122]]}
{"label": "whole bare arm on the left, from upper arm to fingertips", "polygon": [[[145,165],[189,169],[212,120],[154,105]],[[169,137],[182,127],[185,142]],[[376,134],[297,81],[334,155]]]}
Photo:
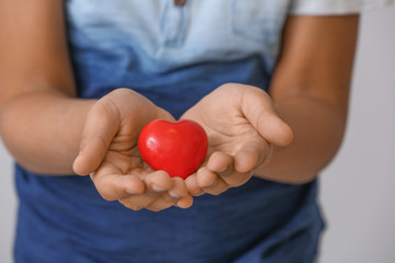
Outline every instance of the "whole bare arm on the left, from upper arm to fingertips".
{"label": "whole bare arm on the left, from upper arm to fingertips", "polygon": [[63,4],[0,0],[0,133],[5,146],[33,172],[90,174],[103,198],[131,209],[191,206],[184,182],[150,170],[137,150],[143,126],[172,119],[169,113],[128,89],[100,100],[76,98]]}

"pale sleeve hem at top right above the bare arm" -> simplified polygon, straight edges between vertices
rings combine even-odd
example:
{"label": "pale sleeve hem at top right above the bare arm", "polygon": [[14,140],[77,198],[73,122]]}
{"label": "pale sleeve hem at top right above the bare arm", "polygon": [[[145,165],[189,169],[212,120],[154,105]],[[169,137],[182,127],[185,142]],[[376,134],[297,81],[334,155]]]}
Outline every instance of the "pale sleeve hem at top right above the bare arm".
{"label": "pale sleeve hem at top right above the bare arm", "polygon": [[293,0],[291,14],[330,15],[361,13],[395,3],[395,0]]}

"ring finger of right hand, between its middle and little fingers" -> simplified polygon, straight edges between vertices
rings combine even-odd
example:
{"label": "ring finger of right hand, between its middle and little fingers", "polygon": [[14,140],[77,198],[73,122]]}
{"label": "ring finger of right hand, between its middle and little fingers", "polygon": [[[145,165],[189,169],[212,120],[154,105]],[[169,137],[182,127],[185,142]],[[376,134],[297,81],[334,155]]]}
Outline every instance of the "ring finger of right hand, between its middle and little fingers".
{"label": "ring finger of right hand, between its middle and little fingers", "polygon": [[221,176],[206,168],[202,168],[198,171],[198,183],[205,193],[212,195],[218,195],[229,187]]}

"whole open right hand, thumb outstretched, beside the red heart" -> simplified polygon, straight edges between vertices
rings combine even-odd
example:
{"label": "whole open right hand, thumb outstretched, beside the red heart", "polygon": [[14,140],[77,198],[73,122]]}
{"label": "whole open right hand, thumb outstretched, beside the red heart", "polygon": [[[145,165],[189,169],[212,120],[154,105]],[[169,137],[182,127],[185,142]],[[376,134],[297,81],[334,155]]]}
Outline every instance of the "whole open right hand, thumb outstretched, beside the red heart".
{"label": "whole open right hand, thumb outstretched, beside the red heart", "polygon": [[251,85],[224,84],[181,118],[200,123],[208,136],[205,164],[185,180],[192,195],[217,195],[246,183],[270,161],[273,145],[286,146],[293,137],[270,96]]}

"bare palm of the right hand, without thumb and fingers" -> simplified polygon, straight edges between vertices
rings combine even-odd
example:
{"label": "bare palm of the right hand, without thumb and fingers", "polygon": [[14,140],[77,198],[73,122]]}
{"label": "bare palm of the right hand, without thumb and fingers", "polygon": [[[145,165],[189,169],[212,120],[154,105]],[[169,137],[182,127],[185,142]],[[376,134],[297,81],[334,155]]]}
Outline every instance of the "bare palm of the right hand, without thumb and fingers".
{"label": "bare palm of the right hand, without thumb and fingers", "polygon": [[204,127],[208,136],[208,155],[219,151],[236,157],[246,146],[268,148],[268,142],[256,127],[259,121],[255,115],[261,111],[260,105],[250,104],[247,117],[241,105],[242,90],[237,89],[238,87],[234,88],[232,85],[218,88],[182,116]]}

